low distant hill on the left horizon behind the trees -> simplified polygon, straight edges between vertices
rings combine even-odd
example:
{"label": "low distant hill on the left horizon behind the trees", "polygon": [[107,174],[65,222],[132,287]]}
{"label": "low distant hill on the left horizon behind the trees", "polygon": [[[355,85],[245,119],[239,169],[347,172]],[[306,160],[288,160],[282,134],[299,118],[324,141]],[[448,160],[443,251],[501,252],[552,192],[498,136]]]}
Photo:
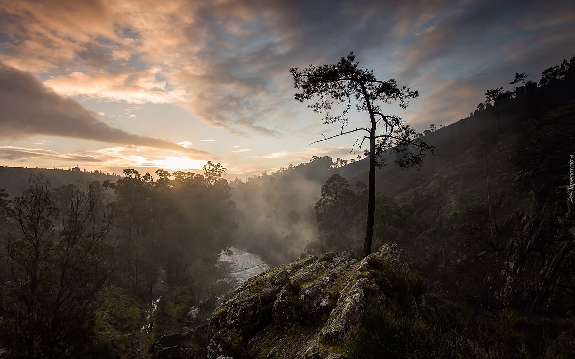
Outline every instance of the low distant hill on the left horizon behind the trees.
{"label": "low distant hill on the left horizon behind the trees", "polygon": [[120,177],[102,172],[85,172],[78,167],[74,169],[52,169],[52,168],[27,168],[27,167],[3,167],[0,166],[0,188],[5,189],[5,193],[11,197],[20,196],[22,191],[28,188],[28,177],[35,173],[42,173],[46,176],[52,187],[60,187],[66,184],[77,184],[98,181],[104,183],[105,180],[116,182]]}

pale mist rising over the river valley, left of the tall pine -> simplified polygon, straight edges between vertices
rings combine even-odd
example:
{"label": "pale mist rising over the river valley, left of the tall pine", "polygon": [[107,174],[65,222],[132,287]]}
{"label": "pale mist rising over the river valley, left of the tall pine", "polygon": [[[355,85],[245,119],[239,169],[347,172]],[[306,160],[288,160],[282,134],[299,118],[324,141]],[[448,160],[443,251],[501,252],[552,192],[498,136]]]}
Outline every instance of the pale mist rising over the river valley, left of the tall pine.
{"label": "pale mist rising over the river valley, left of the tall pine", "polygon": [[313,206],[323,182],[310,178],[304,169],[310,165],[262,173],[247,183],[232,181],[232,200],[239,211],[237,245],[275,266],[299,258],[317,239]]}

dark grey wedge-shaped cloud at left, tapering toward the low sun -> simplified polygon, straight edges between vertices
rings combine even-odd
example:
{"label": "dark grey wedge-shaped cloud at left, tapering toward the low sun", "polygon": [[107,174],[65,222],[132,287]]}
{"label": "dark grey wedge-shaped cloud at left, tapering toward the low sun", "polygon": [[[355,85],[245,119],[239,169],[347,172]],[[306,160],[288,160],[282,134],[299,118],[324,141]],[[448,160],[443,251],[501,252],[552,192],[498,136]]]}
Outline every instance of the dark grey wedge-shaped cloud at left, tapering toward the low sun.
{"label": "dark grey wedge-shaped cloud at left, tapering toward the low sun", "polygon": [[30,72],[0,64],[0,136],[43,134],[82,138],[113,144],[150,146],[190,155],[213,157],[210,153],[157,138],[138,136],[113,128],[94,111],[44,87]]}

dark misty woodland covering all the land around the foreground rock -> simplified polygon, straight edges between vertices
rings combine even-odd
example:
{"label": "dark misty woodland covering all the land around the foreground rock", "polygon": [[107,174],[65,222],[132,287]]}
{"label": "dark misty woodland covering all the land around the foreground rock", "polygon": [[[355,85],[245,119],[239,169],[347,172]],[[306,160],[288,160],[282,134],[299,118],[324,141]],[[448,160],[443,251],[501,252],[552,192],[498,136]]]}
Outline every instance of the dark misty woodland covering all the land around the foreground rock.
{"label": "dark misty woodland covering all the land around the foreground rock", "polygon": [[[509,78],[512,91],[487,90],[459,122],[414,130],[410,141],[437,152],[422,157],[420,168],[396,166],[401,144],[378,152],[388,161],[374,172],[373,252],[395,244],[415,272],[370,264],[386,299],[367,300],[355,334],[333,344],[335,352],[575,354],[575,217],[566,190],[575,57],[543,71],[539,82],[527,76]],[[239,293],[232,291],[241,283],[218,264],[232,247],[271,267],[306,256],[329,262],[346,251],[362,261],[369,156],[314,156],[245,182],[228,182],[226,168],[208,161],[201,174],[125,168],[121,176],[94,172],[101,182],[59,187],[52,183],[62,181],[37,171],[21,193],[1,189],[0,357],[167,358],[156,348],[160,338],[216,321],[225,298]],[[297,293],[310,283],[290,285],[282,289],[287,303],[305,308]],[[312,316],[293,315],[283,327],[258,330],[269,341],[289,341],[317,326]],[[205,349],[210,333],[170,348],[215,359]],[[257,349],[264,342],[238,333],[225,339],[229,355],[265,357]]]}

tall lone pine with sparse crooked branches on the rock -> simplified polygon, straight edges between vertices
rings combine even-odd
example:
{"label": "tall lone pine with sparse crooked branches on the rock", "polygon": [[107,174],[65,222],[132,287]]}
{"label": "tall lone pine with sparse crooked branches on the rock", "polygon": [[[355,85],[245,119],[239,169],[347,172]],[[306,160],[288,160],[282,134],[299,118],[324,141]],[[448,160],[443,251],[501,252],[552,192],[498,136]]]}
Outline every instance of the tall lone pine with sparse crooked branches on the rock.
{"label": "tall lone pine with sparse crooked branches on the rock", "polygon": [[[408,100],[417,98],[419,92],[405,86],[398,86],[394,79],[385,81],[378,80],[373,70],[358,68],[358,62],[352,52],[336,64],[309,65],[303,71],[297,67],[291,68],[294,86],[301,89],[296,92],[296,100],[316,99],[309,105],[316,113],[325,113],[323,123],[342,124],[340,133],[335,136],[325,137],[326,141],[331,138],[350,133],[358,133],[355,145],[362,148],[363,141],[369,141],[369,150],[365,156],[369,157],[369,194],[367,200],[367,221],[363,256],[371,253],[373,240],[373,225],[375,213],[375,168],[385,165],[385,154],[388,152],[401,153],[402,156],[396,163],[401,167],[420,166],[423,164],[422,156],[428,151],[434,153],[432,146],[421,140],[420,134],[414,128],[407,125],[405,120],[397,115],[382,113],[381,105],[399,101],[402,109],[408,106]],[[332,106],[340,105],[343,110],[336,114],[329,114]],[[344,131],[347,126],[348,114],[352,106],[359,113],[369,115],[370,125],[365,128],[356,128]],[[379,128],[378,128],[378,125]],[[359,133],[363,134],[360,141]],[[316,143],[313,142],[313,143]]]}

